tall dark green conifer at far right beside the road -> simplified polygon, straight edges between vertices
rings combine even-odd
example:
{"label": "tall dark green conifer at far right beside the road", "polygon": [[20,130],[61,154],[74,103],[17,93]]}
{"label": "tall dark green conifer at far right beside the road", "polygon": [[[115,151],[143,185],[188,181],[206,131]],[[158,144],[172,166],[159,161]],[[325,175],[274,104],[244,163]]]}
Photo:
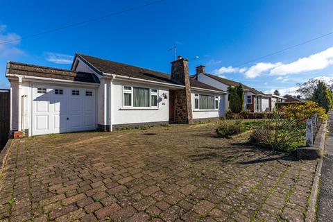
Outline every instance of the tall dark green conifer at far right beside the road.
{"label": "tall dark green conifer at far right beside the road", "polygon": [[327,85],[319,80],[316,88],[314,89],[314,94],[312,95],[312,101],[318,103],[326,112],[332,109],[333,95],[332,90],[327,88]]}

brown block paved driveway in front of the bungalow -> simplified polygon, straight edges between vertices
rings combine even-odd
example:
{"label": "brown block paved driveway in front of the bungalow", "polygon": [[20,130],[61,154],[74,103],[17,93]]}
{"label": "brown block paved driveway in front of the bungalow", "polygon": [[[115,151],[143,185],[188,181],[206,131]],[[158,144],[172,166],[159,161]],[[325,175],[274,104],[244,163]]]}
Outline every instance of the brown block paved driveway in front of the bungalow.
{"label": "brown block paved driveway in front of the bungalow", "polygon": [[[316,161],[221,139],[216,123],[16,140],[2,221],[304,221]],[[1,221],[0,219],[0,221]]]}

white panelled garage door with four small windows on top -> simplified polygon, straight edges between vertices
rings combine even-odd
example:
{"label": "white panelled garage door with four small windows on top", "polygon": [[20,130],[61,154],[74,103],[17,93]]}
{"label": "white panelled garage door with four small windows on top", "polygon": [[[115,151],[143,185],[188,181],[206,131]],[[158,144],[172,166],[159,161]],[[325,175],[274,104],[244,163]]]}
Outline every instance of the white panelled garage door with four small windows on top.
{"label": "white panelled garage door with four small windows on top", "polygon": [[94,89],[33,87],[32,135],[94,129]]}

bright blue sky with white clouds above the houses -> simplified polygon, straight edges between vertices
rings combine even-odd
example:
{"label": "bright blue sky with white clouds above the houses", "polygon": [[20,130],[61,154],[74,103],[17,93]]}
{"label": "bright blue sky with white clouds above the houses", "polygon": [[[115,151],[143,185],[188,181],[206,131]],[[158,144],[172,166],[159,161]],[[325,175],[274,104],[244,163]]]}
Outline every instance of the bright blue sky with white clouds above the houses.
{"label": "bright blue sky with white clouds above the houses", "polygon": [[[151,1],[3,1],[0,42],[125,10]],[[19,6],[19,7],[18,7]],[[0,44],[6,61],[69,68],[76,52],[170,72],[178,55],[208,72],[264,92],[293,92],[309,78],[333,77],[333,35],[240,65],[333,31],[333,1],[166,0],[62,31]],[[198,58],[197,58],[198,57]],[[239,66],[240,65],[240,66]]]}

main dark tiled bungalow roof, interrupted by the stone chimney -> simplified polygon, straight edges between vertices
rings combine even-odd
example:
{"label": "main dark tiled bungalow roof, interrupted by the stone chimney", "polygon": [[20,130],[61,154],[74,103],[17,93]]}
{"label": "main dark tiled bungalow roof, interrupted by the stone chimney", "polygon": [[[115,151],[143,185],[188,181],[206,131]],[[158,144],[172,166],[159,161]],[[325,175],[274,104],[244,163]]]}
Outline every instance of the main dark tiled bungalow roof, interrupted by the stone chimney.
{"label": "main dark tiled bungalow roof, interrupted by the stone chimney", "polygon": [[[76,56],[81,60],[83,60],[83,62],[89,65],[92,69],[96,69],[95,71],[101,75],[103,75],[103,73],[115,74],[119,76],[140,78],[143,80],[153,80],[160,83],[171,83],[175,85],[180,85],[180,83],[176,83],[175,81],[171,80],[171,75],[165,74],[161,71],[145,69],[142,67],[135,67],[133,65],[127,65],[120,62],[113,62],[110,60],[96,58],[94,56],[87,56],[80,53],[76,53]],[[198,87],[201,89],[210,89],[223,92],[223,90],[221,89],[217,89],[205,83],[200,83],[198,82],[198,80],[194,80],[191,78],[190,78],[190,85],[191,87]]]}

